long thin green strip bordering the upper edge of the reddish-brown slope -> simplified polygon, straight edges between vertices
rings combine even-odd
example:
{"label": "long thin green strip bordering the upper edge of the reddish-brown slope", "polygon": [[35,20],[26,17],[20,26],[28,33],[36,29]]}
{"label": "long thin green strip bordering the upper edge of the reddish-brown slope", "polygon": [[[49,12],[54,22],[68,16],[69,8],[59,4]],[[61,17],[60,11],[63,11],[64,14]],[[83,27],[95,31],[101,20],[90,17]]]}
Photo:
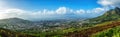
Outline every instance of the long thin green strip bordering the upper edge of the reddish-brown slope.
{"label": "long thin green strip bordering the upper edge of the reddish-brown slope", "polygon": [[81,30],[92,28],[92,27],[96,27],[96,26],[103,26],[103,25],[107,25],[107,24],[112,24],[113,22],[115,22],[115,21],[109,21],[109,22],[104,22],[104,23],[101,23],[101,24],[96,24],[96,25],[92,25],[92,26],[84,26],[84,27],[79,27],[79,28],[71,27],[71,28],[64,29],[64,30],[57,30],[55,32],[51,32],[51,31],[42,32],[42,33],[37,34],[37,35],[41,36],[41,37],[45,37],[45,36],[49,36],[49,37],[50,36],[51,37],[53,37],[53,36],[55,36],[55,37],[62,37],[65,34],[70,34],[70,33],[73,33],[73,32],[79,32]]}

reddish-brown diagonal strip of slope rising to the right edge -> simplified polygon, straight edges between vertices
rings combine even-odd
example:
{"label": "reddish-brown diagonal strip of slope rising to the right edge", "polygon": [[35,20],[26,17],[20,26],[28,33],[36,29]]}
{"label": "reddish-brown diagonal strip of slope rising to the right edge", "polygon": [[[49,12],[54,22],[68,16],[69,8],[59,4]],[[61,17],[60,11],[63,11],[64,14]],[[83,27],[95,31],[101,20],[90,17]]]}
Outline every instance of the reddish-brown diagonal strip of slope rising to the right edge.
{"label": "reddish-brown diagonal strip of slope rising to the right edge", "polygon": [[88,28],[85,30],[82,30],[80,32],[73,32],[73,33],[69,33],[68,35],[66,35],[65,37],[90,37],[90,35],[109,29],[109,28],[113,28],[120,25],[120,22],[113,22],[112,24],[107,24],[107,25],[103,25],[103,26],[96,26],[93,28]]}

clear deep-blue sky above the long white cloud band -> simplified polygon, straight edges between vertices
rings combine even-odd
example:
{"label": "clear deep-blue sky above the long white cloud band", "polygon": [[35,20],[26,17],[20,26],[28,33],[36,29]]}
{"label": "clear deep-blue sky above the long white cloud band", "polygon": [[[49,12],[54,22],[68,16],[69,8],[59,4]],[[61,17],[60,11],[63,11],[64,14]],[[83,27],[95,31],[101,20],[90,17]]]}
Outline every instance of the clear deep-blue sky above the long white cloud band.
{"label": "clear deep-blue sky above the long white cloud band", "polygon": [[64,6],[72,9],[101,7],[97,0],[6,0],[10,6],[27,10],[57,9]]}

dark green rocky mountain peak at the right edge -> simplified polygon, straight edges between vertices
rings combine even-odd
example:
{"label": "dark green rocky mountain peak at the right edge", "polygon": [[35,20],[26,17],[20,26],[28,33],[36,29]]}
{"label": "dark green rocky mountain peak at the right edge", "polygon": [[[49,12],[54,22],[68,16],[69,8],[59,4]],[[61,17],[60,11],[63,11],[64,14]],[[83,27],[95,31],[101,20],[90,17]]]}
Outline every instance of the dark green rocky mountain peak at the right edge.
{"label": "dark green rocky mountain peak at the right edge", "polygon": [[93,20],[104,22],[104,21],[111,21],[118,19],[120,19],[120,8],[116,7],[114,9],[105,12],[103,15],[94,18]]}

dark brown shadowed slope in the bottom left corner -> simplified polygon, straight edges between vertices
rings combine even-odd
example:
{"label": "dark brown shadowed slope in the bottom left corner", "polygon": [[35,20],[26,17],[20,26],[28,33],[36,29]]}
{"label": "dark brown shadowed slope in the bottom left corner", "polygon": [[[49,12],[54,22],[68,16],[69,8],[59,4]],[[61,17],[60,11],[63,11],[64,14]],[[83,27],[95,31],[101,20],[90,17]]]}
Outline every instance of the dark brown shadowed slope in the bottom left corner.
{"label": "dark brown shadowed slope in the bottom left corner", "polygon": [[0,28],[0,36],[1,37],[35,37],[35,36],[32,36],[32,35],[12,32],[10,30],[3,29],[3,28]]}

